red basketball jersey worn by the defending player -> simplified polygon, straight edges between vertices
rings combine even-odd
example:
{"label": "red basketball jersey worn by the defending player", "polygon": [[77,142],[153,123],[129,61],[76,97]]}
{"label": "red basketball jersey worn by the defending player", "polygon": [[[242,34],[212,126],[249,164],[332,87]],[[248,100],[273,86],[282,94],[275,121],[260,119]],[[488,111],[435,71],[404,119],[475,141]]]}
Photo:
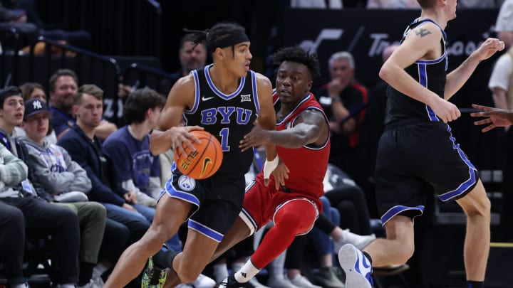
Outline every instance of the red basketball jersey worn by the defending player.
{"label": "red basketball jersey worn by the defending player", "polygon": [[[276,92],[273,95],[273,102],[275,107],[279,104],[279,97]],[[296,122],[299,114],[304,110],[318,110],[324,115],[321,105],[319,105],[314,95],[309,93],[290,114],[276,123],[276,130],[280,131],[294,127],[294,122]],[[326,119],[326,124],[328,124],[326,115],[324,115],[324,119]],[[276,146],[276,149],[278,156],[290,170],[289,178],[285,179],[286,188],[296,193],[303,193],[316,198],[321,197],[324,193],[323,178],[328,169],[329,137],[321,146],[311,144],[301,148]],[[272,176],[271,181],[273,183],[270,183],[269,186],[272,185],[271,187],[274,187],[274,178]]]}

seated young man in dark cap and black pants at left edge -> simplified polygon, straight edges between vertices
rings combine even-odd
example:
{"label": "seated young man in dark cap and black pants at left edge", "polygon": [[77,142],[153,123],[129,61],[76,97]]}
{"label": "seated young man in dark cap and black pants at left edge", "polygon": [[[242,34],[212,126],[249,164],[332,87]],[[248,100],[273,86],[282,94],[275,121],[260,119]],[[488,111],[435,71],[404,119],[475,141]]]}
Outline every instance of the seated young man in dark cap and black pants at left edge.
{"label": "seated young man in dark cap and black pants at left edge", "polygon": [[[0,91],[0,201],[11,206],[6,212],[14,215],[11,221],[17,221],[16,227],[24,230],[24,238],[16,235],[1,235],[2,241],[10,245],[2,245],[0,253],[16,252],[19,245],[29,238],[46,238],[51,235],[52,282],[61,288],[74,288],[78,282],[78,250],[80,247],[80,230],[78,218],[73,210],[41,201],[30,181],[26,179],[27,166],[19,161],[16,142],[13,138],[14,127],[21,124],[25,105],[21,90],[9,86]],[[10,151],[10,153],[9,153]],[[12,156],[14,154],[15,157]],[[24,180],[25,179],[25,180]],[[23,180],[23,181],[22,181]],[[2,209],[2,211],[4,211]],[[21,217],[20,212],[23,213]],[[23,236],[18,233],[17,236]],[[11,246],[12,244],[12,246]],[[24,245],[24,244],[21,244]],[[5,249],[12,251],[5,251]],[[2,257],[4,267],[12,273],[11,287],[26,287],[21,274],[23,254],[14,257]]]}

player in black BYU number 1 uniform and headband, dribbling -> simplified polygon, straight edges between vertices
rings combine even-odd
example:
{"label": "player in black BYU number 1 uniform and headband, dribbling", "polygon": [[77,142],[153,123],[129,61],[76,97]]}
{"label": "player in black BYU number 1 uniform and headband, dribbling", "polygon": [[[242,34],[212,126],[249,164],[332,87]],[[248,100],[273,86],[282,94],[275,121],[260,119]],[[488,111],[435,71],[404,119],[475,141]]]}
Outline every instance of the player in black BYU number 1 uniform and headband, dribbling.
{"label": "player in black BYU number 1 uniform and headband, dribbling", "polygon": [[[182,283],[194,282],[242,208],[244,174],[252,164],[253,152],[239,149],[239,141],[251,131],[256,119],[264,129],[275,129],[271,82],[249,70],[252,54],[244,28],[218,23],[208,31],[193,32],[195,43],[205,41],[213,64],[192,71],[173,85],[157,129],[152,132],[150,149],[155,155],[170,148],[185,153],[182,144],[194,150],[192,142],[198,140],[190,131],[204,129],[219,139],[223,163],[214,176],[204,180],[182,175],[173,164],[150,229],[123,252],[105,287],[124,287],[141,272],[148,258],[142,287],[162,287],[166,267],[176,272]],[[266,151],[269,183],[278,158],[273,144],[266,145]],[[284,176],[276,171],[274,177],[283,182]],[[161,249],[187,219],[189,230],[183,252]]]}

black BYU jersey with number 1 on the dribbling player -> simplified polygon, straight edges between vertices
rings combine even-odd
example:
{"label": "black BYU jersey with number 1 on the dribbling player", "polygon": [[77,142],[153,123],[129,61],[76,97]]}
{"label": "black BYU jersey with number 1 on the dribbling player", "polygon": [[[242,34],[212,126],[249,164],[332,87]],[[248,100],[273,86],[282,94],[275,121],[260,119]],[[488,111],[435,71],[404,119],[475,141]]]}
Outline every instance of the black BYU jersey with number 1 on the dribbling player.
{"label": "black BYU jersey with number 1 on the dribbling player", "polygon": [[249,70],[241,78],[237,90],[226,95],[214,86],[209,75],[211,66],[192,71],[195,103],[190,110],[184,111],[185,123],[204,127],[219,139],[224,153],[216,175],[244,175],[252,164],[253,151],[242,152],[239,142],[251,131],[259,112],[256,75]]}

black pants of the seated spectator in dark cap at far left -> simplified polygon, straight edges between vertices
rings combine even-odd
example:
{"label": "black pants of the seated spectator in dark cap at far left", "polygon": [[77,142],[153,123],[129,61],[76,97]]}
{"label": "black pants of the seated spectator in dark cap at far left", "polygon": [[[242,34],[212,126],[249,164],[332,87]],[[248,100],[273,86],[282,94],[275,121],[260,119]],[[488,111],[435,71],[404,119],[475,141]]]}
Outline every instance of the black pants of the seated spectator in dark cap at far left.
{"label": "black pants of the seated spectator in dark cap at far left", "polygon": [[[16,215],[16,221],[18,221],[18,227],[25,228],[27,239],[46,238],[47,235],[51,235],[52,265],[50,277],[52,281],[56,284],[76,283],[78,281],[78,250],[80,247],[80,230],[76,213],[69,208],[47,203],[40,198],[1,198],[0,203],[12,206],[13,209],[9,209],[10,211],[16,211],[16,208],[21,210],[24,220]],[[24,245],[24,239],[19,237],[19,233],[18,235],[9,233],[5,237],[2,233],[2,241],[19,242]],[[19,243],[16,245],[19,245]],[[16,245],[1,245],[0,249],[12,250],[10,251],[12,253]],[[19,249],[19,247],[16,247],[16,249]],[[21,270],[20,262],[23,259],[23,254],[21,254],[21,260],[19,257],[6,258],[16,259],[16,261],[11,262],[11,265],[19,265],[19,267],[11,267],[14,272],[18,271],[16,273],[19,273],[18,269]],[[17,275],[14,276],[18,277]]]}

